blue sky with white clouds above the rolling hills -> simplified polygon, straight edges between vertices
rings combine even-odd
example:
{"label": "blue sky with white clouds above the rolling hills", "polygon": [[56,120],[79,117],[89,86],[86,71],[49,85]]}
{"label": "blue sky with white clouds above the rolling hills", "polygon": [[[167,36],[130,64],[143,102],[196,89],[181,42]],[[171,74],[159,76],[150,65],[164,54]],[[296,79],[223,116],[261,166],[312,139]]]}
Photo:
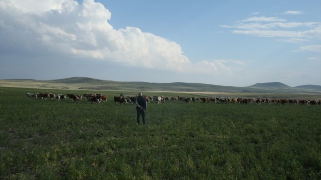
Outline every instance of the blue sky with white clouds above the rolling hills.
{"label": "blue sky with white clouds above the rolling hills", "polygon": [[320,0],[1,0],[0,79],[321,85]]}

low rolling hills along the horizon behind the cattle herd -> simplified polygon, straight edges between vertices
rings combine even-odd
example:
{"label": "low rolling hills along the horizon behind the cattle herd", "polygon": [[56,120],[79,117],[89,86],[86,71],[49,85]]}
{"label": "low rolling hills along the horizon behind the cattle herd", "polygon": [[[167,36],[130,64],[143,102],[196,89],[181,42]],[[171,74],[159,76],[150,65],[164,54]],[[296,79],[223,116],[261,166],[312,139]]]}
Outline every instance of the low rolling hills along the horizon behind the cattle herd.
{"label": "low rolling hills along the horizon behind the cattle herd", "polygon": [[168,91],[168,92],[222,92],[222,93],[285,93],[321,94],[319,85],[290,87],[281,82],[256,83],[248,87],[221,86],[187,82],[118,82],[86,77],[72,77],[58,80],[0,80],[1,87],[23,87],[39,89],[82,89],[116,91]]}

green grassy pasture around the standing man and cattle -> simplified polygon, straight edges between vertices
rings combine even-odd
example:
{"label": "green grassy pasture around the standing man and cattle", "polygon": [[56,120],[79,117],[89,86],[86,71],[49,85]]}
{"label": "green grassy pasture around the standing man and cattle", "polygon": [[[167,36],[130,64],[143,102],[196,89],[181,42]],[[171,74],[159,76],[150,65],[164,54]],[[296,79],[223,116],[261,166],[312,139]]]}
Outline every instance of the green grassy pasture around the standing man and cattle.
{"label": "green grassy pasture around the standing man and cattle", "polygon": [[0,87],[0,179],[321,179],[320,105],[149,103],[138,126],[118,92],[43,91]]}

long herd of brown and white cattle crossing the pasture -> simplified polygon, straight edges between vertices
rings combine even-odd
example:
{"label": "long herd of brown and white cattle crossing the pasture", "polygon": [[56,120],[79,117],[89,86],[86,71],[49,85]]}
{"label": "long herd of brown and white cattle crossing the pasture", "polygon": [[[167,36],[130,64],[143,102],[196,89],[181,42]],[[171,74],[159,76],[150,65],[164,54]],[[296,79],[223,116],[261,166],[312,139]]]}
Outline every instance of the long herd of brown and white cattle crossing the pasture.
{"label": "long herd of brown and white cattle crossing the pasture", "polygon": [[[27,93],[27,98],[38,98],[38,99],[56,99],[59,100],[66,100],[70,99],[73,101],[83,100],[86,99],[90,102],[96,102],[100,103],[102,101],[107,101],[108,96],[103,94],[91,94],[91,93],[85,93],[83,95],[76,95],[76,94],[67,94],[67,96],[63,94],[57,94],[54,95],[53,93],[45,92],[45,93]],[[122,105],[123,103],[135,103],[136,96],[114,96],[113,102],[120,103]],[[231,104],[303,104],[303,105],[320,105],[321,100],[318,99],[276,99],[276,98],[221,98],[221,97],[207,97],[207,98],[186,98],[186,97],[164,97],[164,96],[145,96],[147,102],[156,102],[156,103],[162,103],[162,102],[168,102],[168,101],[181,101],[183,103],[190,103],[190,102],[196,102],[201,101],[204,103],[231,103]]]}

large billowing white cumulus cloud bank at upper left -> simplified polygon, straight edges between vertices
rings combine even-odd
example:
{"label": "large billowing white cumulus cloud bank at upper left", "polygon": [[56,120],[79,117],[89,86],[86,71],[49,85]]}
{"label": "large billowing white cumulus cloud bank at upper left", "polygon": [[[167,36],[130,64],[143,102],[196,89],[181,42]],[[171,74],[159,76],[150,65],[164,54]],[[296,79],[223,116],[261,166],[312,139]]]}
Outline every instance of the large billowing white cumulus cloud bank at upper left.
{"label": "large billowing white cumulus cloud bank at upper left", "polygon": [[[137,27],[114,29],[111,12],[94,0],[1,0],[1,53],[18,41],[19,52],[143,66],[178,72],[231,74],[222,61],[192,64],[180,45]],[[68,58],[66,58],[68,59]],[[203,67],[206,65],[206,67]],[[204,70],[204,71],[203,71]],[[228,72],[228,73],[225,73]]]}

